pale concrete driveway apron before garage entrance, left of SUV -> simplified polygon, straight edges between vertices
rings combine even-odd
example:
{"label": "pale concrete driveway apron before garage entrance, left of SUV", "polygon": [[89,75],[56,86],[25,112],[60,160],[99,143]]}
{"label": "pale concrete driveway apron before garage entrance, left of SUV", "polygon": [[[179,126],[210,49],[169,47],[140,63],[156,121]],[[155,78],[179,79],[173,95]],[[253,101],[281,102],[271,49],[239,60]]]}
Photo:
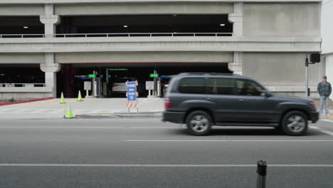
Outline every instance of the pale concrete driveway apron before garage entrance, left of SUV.
{"label": "pale concrete driveway apron before garage entrance, left of SUV", "polygon": [[[0,106],[0,119],[60,119],[63,118],[64,108],[72,108],[73,115],[77,117],[96,117],[115,114],[128,114],[126,98],[88,98],[78,102],[74,98],[65,99],[66,104],[59,103],[60,99],[43,100],[32,103]],[[138,113],[157,114],[164,110],[162,98],[138,98]],[[137,114],[136,108],[130,108],[130,115]],[[135,115],[134,115],[135,116]],[[138,115],[137,115],[138,116]],[[120,116],[119,116],[120,117]]]}

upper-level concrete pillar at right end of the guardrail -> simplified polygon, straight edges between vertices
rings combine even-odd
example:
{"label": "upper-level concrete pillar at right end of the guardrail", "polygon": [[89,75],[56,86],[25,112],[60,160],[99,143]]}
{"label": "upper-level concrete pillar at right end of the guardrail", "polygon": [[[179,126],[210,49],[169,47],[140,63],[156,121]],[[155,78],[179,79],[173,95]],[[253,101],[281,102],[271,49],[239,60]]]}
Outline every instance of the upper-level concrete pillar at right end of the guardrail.
{"label": "upper-level concrete pillar at right end of the guardrail", "polygon": [[233,5],[233,14],[228,15],[228,21],[233,23],[233,36],[243,36],[243,3]]}

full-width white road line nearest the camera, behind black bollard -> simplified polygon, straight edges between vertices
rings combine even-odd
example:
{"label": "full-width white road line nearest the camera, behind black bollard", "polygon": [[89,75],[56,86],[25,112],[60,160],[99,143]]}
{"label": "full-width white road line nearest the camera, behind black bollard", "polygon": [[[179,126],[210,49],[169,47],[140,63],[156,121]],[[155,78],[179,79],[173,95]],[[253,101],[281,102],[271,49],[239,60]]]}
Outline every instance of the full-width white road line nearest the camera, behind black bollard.
{"label": "full-width white road line nearest the camera, behind black bollard", "polygon": [[[256,164],[33,164],[3,163],[0,167],[257,167]],[[333,164],[268,164],[268,167],[333,167]]]}

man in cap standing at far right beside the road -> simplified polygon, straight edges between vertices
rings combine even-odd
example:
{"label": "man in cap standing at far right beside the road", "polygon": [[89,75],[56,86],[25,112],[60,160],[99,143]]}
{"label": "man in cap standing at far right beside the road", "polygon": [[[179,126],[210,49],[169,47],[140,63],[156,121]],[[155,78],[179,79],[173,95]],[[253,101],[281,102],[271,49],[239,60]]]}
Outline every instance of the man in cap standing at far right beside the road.
{"label": "man in cap standing at far right beside the road", "polygon": [[329,82],[327,82],[327,77],[324,75],[322,77],[322,82],[318,84],[318,93],[320,95],[319,113],[323,113],[323,103],[325,101],[325,114],[329,115],[329,95],[332,93],[332,87]]}

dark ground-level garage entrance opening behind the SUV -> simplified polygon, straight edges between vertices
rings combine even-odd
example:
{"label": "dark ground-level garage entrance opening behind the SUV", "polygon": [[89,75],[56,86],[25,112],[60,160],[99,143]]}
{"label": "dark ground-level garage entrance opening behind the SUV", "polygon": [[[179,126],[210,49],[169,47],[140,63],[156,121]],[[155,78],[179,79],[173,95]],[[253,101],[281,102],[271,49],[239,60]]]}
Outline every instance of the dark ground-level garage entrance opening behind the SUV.
{"label": "dark ground-level garage entrance opening behind the SUV", "polygon": [[[161,87],[167,85],[173,75],[179,73],[232,73],[228,63],[85,63],[63,64],[57,75],[57,95],[64,92],[66,98],[75,98],[80,90],[85,97],[84,82],[95,73],[100,79],[100,97],[125,98],[126,81],[137,80],[139,98],[147,97],[146,81],[153,81],[156,71]],[[92,95],[90,90],[89,95]]]}

